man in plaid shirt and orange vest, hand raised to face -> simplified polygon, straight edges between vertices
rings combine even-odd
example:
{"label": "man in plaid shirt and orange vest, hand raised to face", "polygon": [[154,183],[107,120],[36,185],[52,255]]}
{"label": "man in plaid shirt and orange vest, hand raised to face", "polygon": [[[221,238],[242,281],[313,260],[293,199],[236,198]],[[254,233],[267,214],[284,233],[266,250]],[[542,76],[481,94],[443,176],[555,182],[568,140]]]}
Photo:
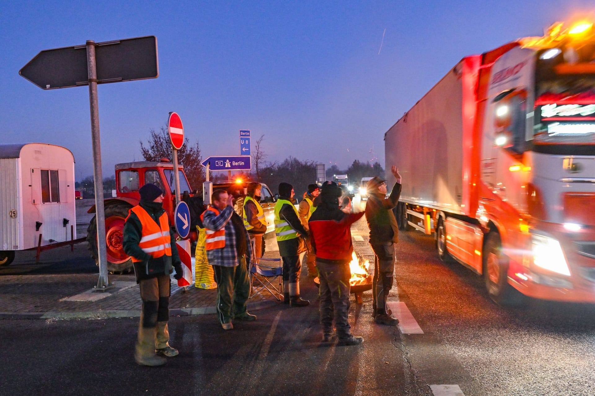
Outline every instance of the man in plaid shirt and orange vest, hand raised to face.
{"label": "man in plaid shirt and orange vest, hand raised to face", "polygon": [[233,329],[232,319],[255,321],[246,311],[250,294],[248,265],[252,256],[250,236],[243,220],[233,210],[233,195],[218,189],[211,195],[212,205],[201,215],[206,229],[206,258],[213,266],[217,281],[217,316],[224,330]]}

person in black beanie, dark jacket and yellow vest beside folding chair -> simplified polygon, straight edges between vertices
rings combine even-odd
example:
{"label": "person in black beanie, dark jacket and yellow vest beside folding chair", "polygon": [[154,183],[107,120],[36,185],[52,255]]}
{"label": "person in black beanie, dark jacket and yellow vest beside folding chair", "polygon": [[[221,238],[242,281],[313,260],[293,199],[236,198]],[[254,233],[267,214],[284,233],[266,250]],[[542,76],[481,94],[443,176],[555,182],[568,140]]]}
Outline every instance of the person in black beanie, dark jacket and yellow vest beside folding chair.
{"label": "person in black beanie, dark jacket and yellow vest beside folding chair", "polygon": [[310,302],[299,295],[299,275],[302,270],[300,254],[306,251],[304,239],[308,232],[300,223],[293,205],[295,192],[289,183],[279,184],[279,199],[275,203],[275,235],[279,255],[283,259],[284,303],[290,306],[306,306]]}

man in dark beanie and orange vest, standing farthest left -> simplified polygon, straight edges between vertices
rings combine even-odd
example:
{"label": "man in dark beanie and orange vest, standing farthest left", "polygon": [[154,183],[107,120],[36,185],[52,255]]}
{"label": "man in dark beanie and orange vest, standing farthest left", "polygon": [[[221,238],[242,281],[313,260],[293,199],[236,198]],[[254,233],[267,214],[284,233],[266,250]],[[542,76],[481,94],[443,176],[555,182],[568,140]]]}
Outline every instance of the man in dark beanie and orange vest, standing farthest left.
{"label": "man in dark beanie and orange vest, standing farthest left", "polygon": [[170,274],[183,276],[176,237],[163,209],[163,192],[147,183],[139,189],[140,202],[124,223],[124,252],[132,257],[143,302],[134,359],[142,366],[161,366],[178,350],[169,344]]}

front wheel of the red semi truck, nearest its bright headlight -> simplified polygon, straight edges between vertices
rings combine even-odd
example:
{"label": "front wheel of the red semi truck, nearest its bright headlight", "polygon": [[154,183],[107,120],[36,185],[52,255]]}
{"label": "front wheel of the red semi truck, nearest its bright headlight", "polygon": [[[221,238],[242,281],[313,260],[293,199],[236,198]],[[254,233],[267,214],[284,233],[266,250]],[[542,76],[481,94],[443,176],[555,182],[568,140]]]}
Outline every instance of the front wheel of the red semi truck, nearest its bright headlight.
{"label": "front wheel of the red semi truck, nearest its bright headlight", "polygon": [[483,273],[490,298],[499,305],[518,305],[522,294],[508,283],[508,257],[502,254],[502,240],[497,232],[486,238],[483,256]]}

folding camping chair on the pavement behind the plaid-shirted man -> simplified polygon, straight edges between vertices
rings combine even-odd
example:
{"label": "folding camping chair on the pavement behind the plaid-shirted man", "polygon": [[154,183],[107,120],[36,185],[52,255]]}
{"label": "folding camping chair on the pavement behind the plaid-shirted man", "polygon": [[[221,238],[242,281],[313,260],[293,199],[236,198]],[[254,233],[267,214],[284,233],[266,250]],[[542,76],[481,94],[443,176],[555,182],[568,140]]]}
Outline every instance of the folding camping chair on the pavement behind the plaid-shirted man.
{"label": "folding camping chair on the pavement behind the plaid-shirted man", "polygon": [[250,260],[250,298],[267,290],[267,292],[271,293],[271,296],[275,297],[277,301],[281,301],[281,297],[283,297],[283,267],[280,265],[265,265],[262,264],[261,261],[280,263],[281,259],[264,257],[256,259],[254,242],[252,241],[252,259]]}

